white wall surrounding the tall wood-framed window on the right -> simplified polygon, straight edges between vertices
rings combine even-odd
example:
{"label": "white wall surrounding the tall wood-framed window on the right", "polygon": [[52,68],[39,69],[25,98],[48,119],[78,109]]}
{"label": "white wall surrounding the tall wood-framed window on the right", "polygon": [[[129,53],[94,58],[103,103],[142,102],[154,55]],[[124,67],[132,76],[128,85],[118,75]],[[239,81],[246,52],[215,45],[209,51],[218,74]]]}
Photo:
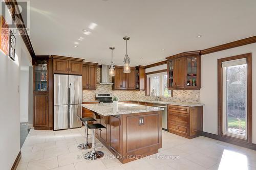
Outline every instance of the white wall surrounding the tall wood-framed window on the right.
{"label": "white wall surrounding the tall wood-framed window on the right", "polygon": [[252,142],[256,143],[256,43],[202,56],[201,103],[204,106],[204,132],[218,134],[218,59],[252,53]]}

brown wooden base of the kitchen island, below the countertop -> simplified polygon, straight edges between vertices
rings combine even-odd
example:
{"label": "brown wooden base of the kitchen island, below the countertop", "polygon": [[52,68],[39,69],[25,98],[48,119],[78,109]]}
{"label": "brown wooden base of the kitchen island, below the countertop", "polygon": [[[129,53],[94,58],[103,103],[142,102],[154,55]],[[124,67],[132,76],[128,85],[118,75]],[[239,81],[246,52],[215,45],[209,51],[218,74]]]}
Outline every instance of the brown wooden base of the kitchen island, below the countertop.
{"label": "brown wooden base of the kitchen island, below the countertop", "polygon": [[122,163],[152,155],[162,148],[161,113],[102,116],[94,112],[97,123],[106,127],[96,130],[95,135]]}

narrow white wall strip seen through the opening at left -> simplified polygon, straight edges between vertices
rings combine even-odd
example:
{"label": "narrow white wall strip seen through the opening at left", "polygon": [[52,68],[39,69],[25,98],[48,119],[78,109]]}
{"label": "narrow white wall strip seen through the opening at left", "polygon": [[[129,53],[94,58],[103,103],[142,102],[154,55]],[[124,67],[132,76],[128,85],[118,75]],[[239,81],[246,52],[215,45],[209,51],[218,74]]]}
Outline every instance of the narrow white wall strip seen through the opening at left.
{"label": "narrow white wall strip seen through the opening at left", "polygon": [[20,70],[20,122],[29,122],[29,70],[25,69]]}

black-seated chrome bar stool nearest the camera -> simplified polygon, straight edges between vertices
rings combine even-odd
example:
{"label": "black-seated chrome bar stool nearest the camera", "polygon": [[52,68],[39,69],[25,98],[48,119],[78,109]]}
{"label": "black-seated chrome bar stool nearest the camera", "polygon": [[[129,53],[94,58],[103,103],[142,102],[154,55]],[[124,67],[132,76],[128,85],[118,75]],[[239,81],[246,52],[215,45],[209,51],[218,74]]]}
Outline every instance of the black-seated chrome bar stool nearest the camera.
{"label": "black-seated chrome bar stool nearest the camera", "polygon": [[104,153],[101,152],[101,151],[95,151],[95,148],[102,148],[103,144],[102,144],[102,147],[96,147],[95,146],[95,129],[101,130],[101,128],[106,128],[106,127],[104,127],[101,124],[91,124],[91,125],[87,124],[87,126],[88,126],[88,129],[93,130],[93,135],[92,135],[92,151],[84,154],[83,155],[84,159],[88,159],[88,160],[100,159],[104,155]]}

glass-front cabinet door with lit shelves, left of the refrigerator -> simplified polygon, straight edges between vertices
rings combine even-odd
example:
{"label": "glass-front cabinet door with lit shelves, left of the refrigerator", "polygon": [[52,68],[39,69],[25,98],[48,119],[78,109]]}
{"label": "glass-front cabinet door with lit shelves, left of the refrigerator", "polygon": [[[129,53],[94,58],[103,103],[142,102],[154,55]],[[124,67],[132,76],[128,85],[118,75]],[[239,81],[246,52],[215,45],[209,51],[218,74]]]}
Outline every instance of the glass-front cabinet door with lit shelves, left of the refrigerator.
{"label": "glass-front cabinet door with lit shelves, left of the refrigerator", "polygon": [[48,61],[34,61],[34,91],[48,91]]}

